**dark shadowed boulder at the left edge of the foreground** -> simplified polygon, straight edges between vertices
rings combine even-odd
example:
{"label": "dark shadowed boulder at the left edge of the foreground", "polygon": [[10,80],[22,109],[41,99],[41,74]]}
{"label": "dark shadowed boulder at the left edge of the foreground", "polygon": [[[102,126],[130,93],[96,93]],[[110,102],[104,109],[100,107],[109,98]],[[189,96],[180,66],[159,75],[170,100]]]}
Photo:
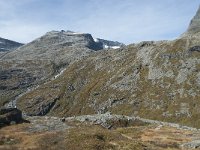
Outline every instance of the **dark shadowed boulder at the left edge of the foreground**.
{"label": "dark shadowed boulder at the left edge of the foreground", "polygon": [[9,125],[12,122],[22,122],[22,112],[17,108],[0,109],[0,125]]}

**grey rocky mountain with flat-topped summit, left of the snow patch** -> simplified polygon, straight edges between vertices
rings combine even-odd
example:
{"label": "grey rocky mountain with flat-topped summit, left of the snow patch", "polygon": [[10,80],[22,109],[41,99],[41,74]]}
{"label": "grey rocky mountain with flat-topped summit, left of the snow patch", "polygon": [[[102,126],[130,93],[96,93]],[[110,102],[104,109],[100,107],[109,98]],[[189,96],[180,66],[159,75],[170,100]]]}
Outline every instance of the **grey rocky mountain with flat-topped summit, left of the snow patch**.
{"label": "grey rocky mountain with flat-topped summit, left of the snow patch", "polygon": [[51,31],[0,57],[0,106],[51,80],[69,64],[103,49],[90,34]]}

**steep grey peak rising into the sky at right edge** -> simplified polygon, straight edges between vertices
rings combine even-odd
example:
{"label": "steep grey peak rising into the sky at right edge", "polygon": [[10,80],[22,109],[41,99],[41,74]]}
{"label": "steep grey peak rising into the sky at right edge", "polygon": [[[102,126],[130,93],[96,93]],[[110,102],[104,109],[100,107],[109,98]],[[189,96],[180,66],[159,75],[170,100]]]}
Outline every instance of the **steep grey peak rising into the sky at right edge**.
{"label": "steep grey peak rising into the sky at right edge", "polygon": [[196,34],[200,33],[200,6],[196,12],[196,15],[190,22],[190,25],[186,31],[186,34]]}

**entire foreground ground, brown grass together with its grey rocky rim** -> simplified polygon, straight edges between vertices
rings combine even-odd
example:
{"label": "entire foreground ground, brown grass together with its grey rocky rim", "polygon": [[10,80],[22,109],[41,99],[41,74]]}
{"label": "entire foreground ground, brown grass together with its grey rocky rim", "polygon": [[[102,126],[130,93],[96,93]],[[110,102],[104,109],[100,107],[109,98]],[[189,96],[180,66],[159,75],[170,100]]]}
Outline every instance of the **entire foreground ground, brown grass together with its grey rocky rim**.
{"label": "entire foreground ground, brown grass together with its grey rocky rim", "polygon": [[200,149],[199,130],[139,117],[106,113],[25,119],[30,123],[0,129],[0,149]]}

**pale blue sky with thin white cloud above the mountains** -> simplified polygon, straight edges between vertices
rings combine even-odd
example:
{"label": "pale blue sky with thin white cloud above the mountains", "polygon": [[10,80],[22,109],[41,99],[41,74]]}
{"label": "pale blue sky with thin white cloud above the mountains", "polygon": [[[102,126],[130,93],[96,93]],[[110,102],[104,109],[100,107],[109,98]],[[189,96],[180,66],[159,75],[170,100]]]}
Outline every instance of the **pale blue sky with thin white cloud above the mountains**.
{"label": "pale blue sky with thin white cloud above the mountains", "polygon": [[51,30],[125,44],[171,40],[186,31],[199,0],[0,0],[0,37],[28,43]]}

